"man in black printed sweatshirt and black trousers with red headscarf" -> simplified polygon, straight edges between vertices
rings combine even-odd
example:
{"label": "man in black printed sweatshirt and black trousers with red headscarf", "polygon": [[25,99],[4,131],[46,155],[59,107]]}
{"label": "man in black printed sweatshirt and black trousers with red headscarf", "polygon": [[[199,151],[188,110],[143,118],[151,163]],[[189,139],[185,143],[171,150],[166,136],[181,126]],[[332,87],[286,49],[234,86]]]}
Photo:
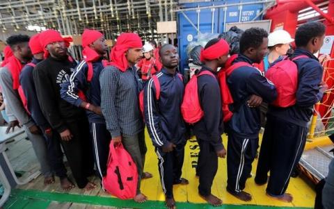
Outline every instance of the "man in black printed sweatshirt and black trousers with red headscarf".
{"label": "man in black printed sweatshirt and black trousers with red headscarf", "polygon": [[67,48],[58,31],[40,33],[40,42],[47,58],[33,70],[33,80],[40,108],[51,126],[58,133],[72,174],[79,188],[92,190],[94,183],[88,176],[94,170],[89,124],[84,110],[61,99],[61,84],[70,80],[77,63],[67,55]]}

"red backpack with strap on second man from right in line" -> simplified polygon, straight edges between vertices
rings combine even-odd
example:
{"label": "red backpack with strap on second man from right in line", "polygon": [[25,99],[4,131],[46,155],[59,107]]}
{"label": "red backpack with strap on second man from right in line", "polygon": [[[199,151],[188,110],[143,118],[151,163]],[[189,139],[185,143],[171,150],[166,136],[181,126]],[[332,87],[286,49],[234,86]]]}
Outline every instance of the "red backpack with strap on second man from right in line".
{"label": "red backpack with strap on second man from right in line", "polygon": [[233,98],[230,92],[230,89],[228,88],[227,79],[232,72],[234,72],[234,69],[237,69],[239,67],[253,67],[248,62],[237,62],[234,65],[232,65],[232,62],[237,58],[237,54],[231,56],[228,61],[225,63],[225,69],[221,69],[221,71],[218,73],[218,81],[219,86],[221,89],[221,106],[223,110],[223,122],[228,122],[233,115],[233,112],[230,110],[230,106],[233,104]]}

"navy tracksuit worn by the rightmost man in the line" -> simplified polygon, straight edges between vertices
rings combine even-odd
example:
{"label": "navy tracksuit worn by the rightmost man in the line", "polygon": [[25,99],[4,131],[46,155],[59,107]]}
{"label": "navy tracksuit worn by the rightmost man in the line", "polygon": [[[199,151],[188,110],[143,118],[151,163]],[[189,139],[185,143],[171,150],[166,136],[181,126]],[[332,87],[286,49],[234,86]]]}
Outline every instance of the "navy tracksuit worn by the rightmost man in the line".
{"label": "navy tracksuit worn by the rightmost man in the line", "polygon": [[319,60],[304,49],[296,49],[292,58],[301,55],[308,58],[294,61],[299,75],[296,104],[288,108],[269,105],[267,113],[255,181],[266,183],[270,171],[267,193],[272,196],[283,195],[287,190],[292,170],[305,147],[312,108],[324,93],[319,90],[323,73]]}

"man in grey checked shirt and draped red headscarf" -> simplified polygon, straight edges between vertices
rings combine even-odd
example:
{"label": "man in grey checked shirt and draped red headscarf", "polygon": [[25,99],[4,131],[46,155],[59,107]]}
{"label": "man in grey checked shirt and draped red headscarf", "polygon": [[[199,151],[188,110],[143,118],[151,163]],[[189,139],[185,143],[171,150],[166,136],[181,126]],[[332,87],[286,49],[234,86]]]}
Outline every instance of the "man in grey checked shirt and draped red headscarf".
{"label": "man in grey checked shirt and draped red headscarf", "polygon": [[134,67],[143,56],[142,47],[141,37],[136,33],[122,33],[111,50],[111,66],[100,75],[101,108],[106,128],[116,144],[122,142],[138,169],[136,202],[147,199],[141,194],[141,178],[152,177],[143,172],[147,148],[138,100],[141,83]]}

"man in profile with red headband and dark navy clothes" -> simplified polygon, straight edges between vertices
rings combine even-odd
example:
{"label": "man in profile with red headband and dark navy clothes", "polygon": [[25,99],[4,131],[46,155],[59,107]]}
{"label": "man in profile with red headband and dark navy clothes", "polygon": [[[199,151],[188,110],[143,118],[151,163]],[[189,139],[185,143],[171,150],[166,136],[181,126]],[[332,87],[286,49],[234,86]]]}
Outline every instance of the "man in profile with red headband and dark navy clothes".
{"label": "man in profile with red headband and dark navy clothes", "polygon": [[197,175],[200,178],[198,193],[212,206],[220,206],[223,202],[211,193],[214,176],[218,169],[218,157],[225,158],[226,151],[221,135],[224,131],[221,92],[216,78],[218,67],[224,67],[228,60],[230,47],[223,39],[214,38],[205,45],[200,54],[204,63],[201,72],[207,71],[212,76],[198,76],[198,95],[204,116],[193,127],[200,145]]}

